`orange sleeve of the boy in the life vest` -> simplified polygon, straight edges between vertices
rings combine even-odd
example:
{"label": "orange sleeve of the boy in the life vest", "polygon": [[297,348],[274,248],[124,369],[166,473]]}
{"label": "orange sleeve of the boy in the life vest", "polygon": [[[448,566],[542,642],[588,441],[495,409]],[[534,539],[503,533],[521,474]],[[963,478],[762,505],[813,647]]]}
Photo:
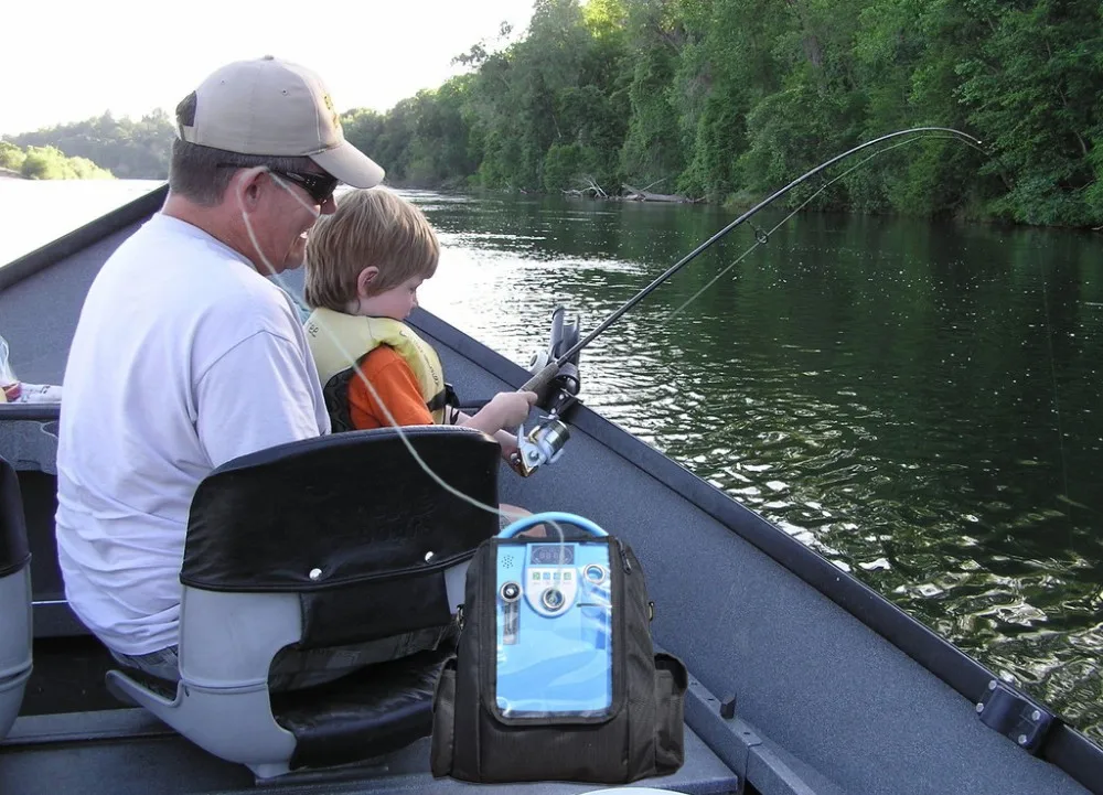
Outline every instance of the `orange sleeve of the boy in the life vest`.
{"label": "orange sleeve of the boy in the life vest", "polygon": [[379,345],[360,365],[378,396],[364,380],[353,376],[349,382],[349,413],[357,429],[389,428],[392,421],[381,407],[387,407],[399,426],[431,426],[432,415],[425,405],[414,370],[389,345]]}

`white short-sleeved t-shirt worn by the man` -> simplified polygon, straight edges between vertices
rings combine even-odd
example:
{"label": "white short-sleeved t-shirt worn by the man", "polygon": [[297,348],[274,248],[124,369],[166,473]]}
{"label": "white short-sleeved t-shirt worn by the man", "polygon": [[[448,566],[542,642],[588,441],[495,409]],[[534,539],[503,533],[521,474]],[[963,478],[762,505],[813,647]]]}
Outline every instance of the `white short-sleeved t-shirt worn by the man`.
{"label": "white short-sleeved t-shirt worn by the man", "polygon": [[159,213],[88,290],[63,388],[56,522],[69,606],[122,654],[171,646],[200,481],[330,431],[298,312],[240,254]]}

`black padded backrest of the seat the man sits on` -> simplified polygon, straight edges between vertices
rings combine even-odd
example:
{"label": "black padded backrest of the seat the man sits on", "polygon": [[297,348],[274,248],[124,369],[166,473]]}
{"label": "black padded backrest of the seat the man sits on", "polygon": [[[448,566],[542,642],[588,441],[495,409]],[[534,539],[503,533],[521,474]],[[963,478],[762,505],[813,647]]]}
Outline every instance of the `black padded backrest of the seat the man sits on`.
{"label": "black padded backrest of the seat the man sits on", "polygon": [[436,479],[496,506],[500,454],[480,431],[417,426],[235,459],[195,493],[180,579],[206,591],[298,594],[301,648],[443,626],[445,572],[499,525]]}

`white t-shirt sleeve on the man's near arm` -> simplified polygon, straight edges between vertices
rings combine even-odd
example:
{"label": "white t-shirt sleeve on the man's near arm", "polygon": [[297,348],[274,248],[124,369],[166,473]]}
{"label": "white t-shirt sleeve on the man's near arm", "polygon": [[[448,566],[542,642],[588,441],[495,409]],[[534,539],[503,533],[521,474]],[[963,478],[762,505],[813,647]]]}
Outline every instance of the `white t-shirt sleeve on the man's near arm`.
{"label": "white t-shirt sleeve on the man's near arm", "polygon": [[295,341],[264,331],[211,365],[195,385],[195,429],[211,464],[321,436],[312,366]]}

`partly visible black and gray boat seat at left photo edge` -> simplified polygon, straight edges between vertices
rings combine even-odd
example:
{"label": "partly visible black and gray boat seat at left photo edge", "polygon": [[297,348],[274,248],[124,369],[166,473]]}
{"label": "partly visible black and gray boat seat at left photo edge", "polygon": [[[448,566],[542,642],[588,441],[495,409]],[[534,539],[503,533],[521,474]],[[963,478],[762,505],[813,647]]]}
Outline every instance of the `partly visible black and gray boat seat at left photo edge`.
{"label": "partly visible black and gray boat seat at left photo edge", "polygon": [[0,458],[0,740],[31,677],[31,552],[15,469]]}

